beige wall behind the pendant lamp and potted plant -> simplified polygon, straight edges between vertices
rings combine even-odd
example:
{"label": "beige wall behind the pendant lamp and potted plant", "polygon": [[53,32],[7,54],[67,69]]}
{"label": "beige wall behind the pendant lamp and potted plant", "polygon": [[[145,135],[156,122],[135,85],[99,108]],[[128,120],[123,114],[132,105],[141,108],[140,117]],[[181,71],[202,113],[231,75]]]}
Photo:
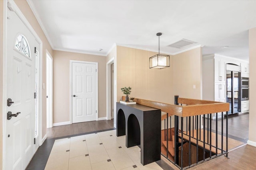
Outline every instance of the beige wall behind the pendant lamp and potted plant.
{"label": "beige wall behind the pendant lamp and potted plant", "polygon": [[173,56],[170,67],[150,69],[149,58],[157,53],[140,49],[117,46],[117,101],[124,96],[120,88],[130,86],[129,96],[168,104],[174,103]]}

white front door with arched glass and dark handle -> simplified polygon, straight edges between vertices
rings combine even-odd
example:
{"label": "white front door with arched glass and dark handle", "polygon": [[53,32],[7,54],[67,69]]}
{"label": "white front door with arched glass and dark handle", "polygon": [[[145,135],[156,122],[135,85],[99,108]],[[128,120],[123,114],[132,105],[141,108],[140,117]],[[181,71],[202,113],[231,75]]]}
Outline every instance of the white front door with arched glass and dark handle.
{"label": "white front door with arched glass and dark handle", "polygon": [[[24,170],[34,155],[36,39],[15,12],[7,20],[6,170]],[[16,116],[16,117],[15,117]],[[8,117],[7,117],[8,118]]]}

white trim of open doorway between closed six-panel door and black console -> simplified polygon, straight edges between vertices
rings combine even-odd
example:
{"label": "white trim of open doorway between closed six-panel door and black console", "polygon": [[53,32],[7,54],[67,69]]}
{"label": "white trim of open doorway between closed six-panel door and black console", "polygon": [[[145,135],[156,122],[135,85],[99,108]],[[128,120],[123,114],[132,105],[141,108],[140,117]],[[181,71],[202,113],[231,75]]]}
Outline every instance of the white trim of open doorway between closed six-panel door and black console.
{"label": "white trim of open doorway between closed six-panel door and black console", "polygon": [[114,57],[107,62],[107,120],[111,119],[111,64],[114,63]]}

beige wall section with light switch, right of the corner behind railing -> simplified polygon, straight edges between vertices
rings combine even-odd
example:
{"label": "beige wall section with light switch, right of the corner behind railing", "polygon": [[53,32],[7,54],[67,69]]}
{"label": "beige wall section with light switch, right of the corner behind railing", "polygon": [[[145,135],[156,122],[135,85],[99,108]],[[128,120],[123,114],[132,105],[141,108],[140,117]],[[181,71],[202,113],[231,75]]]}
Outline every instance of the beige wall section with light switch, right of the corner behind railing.
{"label": "beige wall section with light switch, right of the corner behind railing", "polygon": [[[174,55],[174,95],[182,98],[202,99],[201,47]],[[196,85],[196,89],[193,89]]]}

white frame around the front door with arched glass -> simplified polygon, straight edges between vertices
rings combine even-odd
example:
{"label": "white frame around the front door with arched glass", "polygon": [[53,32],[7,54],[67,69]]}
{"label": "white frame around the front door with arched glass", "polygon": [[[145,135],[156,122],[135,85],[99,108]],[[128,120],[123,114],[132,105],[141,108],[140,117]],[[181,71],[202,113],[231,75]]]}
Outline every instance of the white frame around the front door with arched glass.
{"label": "white frame around the front door with arched glass", "polygon": [[[22,12],[20,11],[20,9],[18,8],[18,6],[16,5],[16,3],[14,2],[14,0],[8,0],[8,1],[4,1],[3,2],[3,42],[7,41],[7,16],[8,16],[8,6],[7,3],[10,3],[12,5],[12,8],[14,9],[14,12],[17,14],[17,16],[20,18],[20,20],[24,23],[24,25],[26,25],[26,27],[28,28],[28,30],[32,33],[32,35],[35,37],[36,41],[39,43],[40,49],[39,49],[39,55],[38,55],[38,60],[39,60],[39,68],[38,68],[38,77],[39,77],[39,89],[38,89],[38,115],[39,115],[39,122],[38,122],[38,135],[39,135],[39,146],[42,145],[42,143],[44,142],[44,140],[46,139],[46,135],[44,136],[44,138],[42,138],[42,57],[43,57],[43,43],[40,39],[40,37],[38,36],[38,34],[36,33],[36,31],[33,29],[32,25],[30,25],[29,21],[26,19],[26,17],[24,16],[24,14],[22,14]],[[6,95],[6,90],[7,90],[7,77],[6,77],[6,73],[7,73],[7,43],[3,43],[2,44],[3,47],[3,63],[2,63],[2,133],[3,133],[3,137],[2,137],[2,141],[0,141],[0,143],[2,142],[2,168],[5,169],[5,164],[6,164],[6,160],[5,160],[5,155],[6,155],[6,121],[7,121],[7,95]],[[34,150],[34,153],[36,152],[36,149]]]}

